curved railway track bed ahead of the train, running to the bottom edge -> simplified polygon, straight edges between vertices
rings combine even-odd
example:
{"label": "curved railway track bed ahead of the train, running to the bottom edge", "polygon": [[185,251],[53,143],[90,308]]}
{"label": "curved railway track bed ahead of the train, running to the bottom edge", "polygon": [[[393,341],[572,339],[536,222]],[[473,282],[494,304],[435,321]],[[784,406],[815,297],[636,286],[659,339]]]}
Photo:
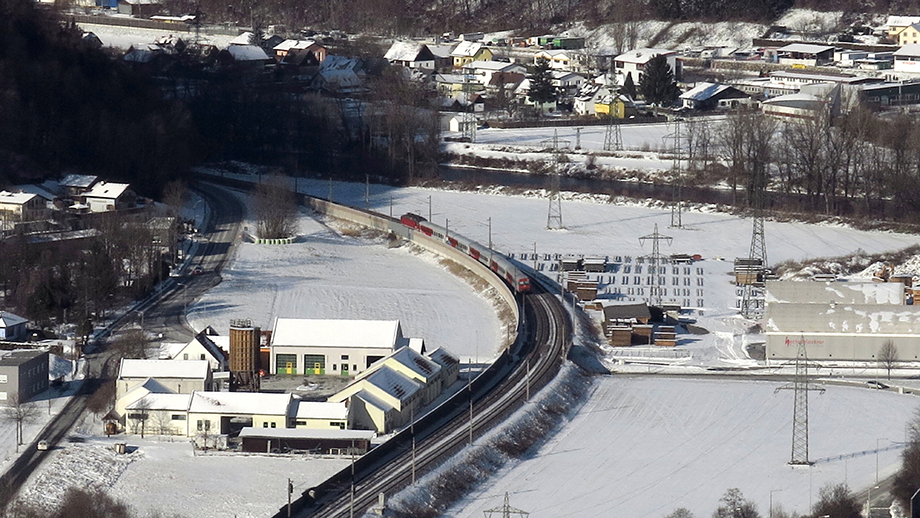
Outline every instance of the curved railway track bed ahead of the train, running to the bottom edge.
{"label": "curved railway track bed ahead of the train, running to the bottom edge", "polygon": [[[562,303],[546,286],[533,283],[523,298],[521,338],[462,391],[378,446],[295,503],[298,517],[360,516],[481,437],[549,383],[568,353],[571,323]],[[472,416],[470,401],[472,400]],[[376,457],[376,458],[374,458]],[[413,462],[414,457],[414,462]],[[283,507],[277,517],[288,516]]]}

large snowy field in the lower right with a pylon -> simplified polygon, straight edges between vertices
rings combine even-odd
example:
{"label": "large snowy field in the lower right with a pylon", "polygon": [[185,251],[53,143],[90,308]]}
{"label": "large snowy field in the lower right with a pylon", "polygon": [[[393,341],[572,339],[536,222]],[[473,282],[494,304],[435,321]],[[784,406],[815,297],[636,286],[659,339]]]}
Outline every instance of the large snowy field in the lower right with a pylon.
{"label": "large snowy field in the lower right with a pylon", "polygon": [[661,518],[678,507],[709,516],[737,487],[768,514],[808,513],[827,483],[875,483],[899,465],[914,396],[828,386],[809,399],[810,469],[792,468],[792,392],[779,383],[613,376],[533,455],[493,477],[445,516],[511,504],[534,518]]}

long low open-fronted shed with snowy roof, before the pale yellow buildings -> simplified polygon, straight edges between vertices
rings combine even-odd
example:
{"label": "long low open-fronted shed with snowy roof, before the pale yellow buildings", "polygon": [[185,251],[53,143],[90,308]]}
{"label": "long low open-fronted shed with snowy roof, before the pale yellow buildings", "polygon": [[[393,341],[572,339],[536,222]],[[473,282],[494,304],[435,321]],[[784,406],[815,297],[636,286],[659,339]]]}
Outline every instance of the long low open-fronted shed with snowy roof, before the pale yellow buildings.
{"label": "long low open-fronted shed with snowy roof, before the pale yellow buildings", "polygon": [[363,455],[376,433],[368,430],[317,430],[310,428],[254,428],[240,430],[243,451],[288,453],[302,451],[324,455]]}

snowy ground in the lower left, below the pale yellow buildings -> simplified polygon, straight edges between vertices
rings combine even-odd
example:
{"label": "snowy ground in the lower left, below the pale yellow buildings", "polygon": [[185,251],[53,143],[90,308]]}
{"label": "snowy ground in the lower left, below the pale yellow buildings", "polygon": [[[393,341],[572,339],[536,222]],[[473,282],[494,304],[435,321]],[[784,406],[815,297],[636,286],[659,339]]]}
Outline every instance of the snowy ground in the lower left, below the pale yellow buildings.
{"label": "snowy ground in the lower left, below the pale yellow buildings", "polygon": [[197,454],[188,441],[124,437],[65,443],[53,452],[21,497],[54,508],[71,486],[107,489],[142,516],[270,516],[287,501],[287,480],[299,494],[346,467],[340,457]]}

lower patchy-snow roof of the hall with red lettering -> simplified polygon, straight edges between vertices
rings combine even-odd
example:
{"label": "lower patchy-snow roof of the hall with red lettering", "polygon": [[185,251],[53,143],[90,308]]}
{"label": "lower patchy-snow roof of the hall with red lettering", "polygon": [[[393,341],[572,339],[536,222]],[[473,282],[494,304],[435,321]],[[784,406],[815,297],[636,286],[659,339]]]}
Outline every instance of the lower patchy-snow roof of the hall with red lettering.
{"label": "lower patchy-snow roof of the hall with red lettering", "polygon": [[916,335],[920,307],[901,304],[772,304],[767,333]]}

